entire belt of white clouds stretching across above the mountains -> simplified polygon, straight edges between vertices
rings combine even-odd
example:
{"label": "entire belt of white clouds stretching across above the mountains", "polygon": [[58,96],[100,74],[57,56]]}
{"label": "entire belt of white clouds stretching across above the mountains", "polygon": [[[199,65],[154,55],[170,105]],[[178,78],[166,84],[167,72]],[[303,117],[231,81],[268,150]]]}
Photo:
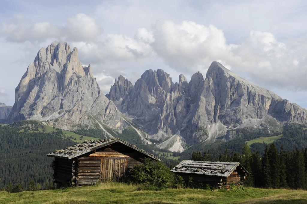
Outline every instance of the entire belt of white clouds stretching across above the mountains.
{"label": "entire belt of white clouds stretching across above the mountains", "polygon": [[134,36],[101,35],[96,21],[83,13],[68,18],[64,26],[16,16],[2,23],[1,31],[13,42],[41,43],[51,38],[70,41],[79,49],[82,63],[94,65],[94,74],[104,90],[119,74],[134,79],[136,72],[149,68],[205,74],[212,61],[267,88],[307,90],[307,40],[284,43],[270,32],[252,30],[240,43],[230,44],[215,25],[161,19],[151,29],[135,30]]}

